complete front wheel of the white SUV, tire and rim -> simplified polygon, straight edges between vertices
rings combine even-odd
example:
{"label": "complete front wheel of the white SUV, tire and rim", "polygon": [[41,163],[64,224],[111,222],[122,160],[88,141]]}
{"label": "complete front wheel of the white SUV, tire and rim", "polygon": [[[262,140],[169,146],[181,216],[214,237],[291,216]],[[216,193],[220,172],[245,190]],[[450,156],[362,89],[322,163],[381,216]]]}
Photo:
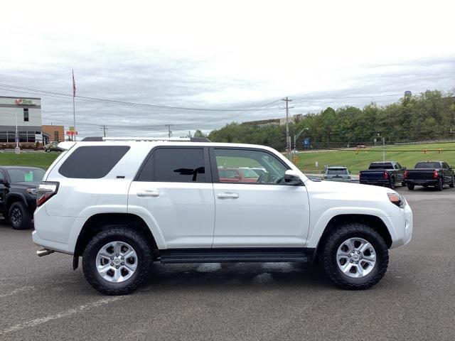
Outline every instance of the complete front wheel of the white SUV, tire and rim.
{"label": "complete front wheel of the white SUV, tire and rim", "polygon": [[322,249],[323,270],[344,289],[367,289],[380,281],[389,264],[384,239],[365,224],[350,223],[333,230]]}

